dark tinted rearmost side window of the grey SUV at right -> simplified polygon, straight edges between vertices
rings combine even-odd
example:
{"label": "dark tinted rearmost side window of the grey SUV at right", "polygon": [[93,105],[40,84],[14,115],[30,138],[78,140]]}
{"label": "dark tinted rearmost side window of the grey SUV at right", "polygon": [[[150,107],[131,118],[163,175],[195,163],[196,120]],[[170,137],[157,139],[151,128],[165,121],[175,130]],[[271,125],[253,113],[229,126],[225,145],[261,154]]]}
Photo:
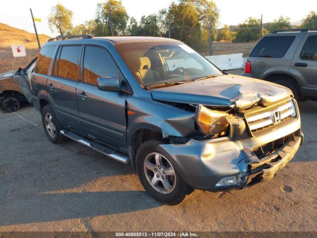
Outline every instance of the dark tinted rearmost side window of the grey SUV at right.
{"label": "dark tinted rearmost side window of the grey SUV at right", "polygon": [[253,49],[250,57],[283,58],[295,36],[266,36]]}

